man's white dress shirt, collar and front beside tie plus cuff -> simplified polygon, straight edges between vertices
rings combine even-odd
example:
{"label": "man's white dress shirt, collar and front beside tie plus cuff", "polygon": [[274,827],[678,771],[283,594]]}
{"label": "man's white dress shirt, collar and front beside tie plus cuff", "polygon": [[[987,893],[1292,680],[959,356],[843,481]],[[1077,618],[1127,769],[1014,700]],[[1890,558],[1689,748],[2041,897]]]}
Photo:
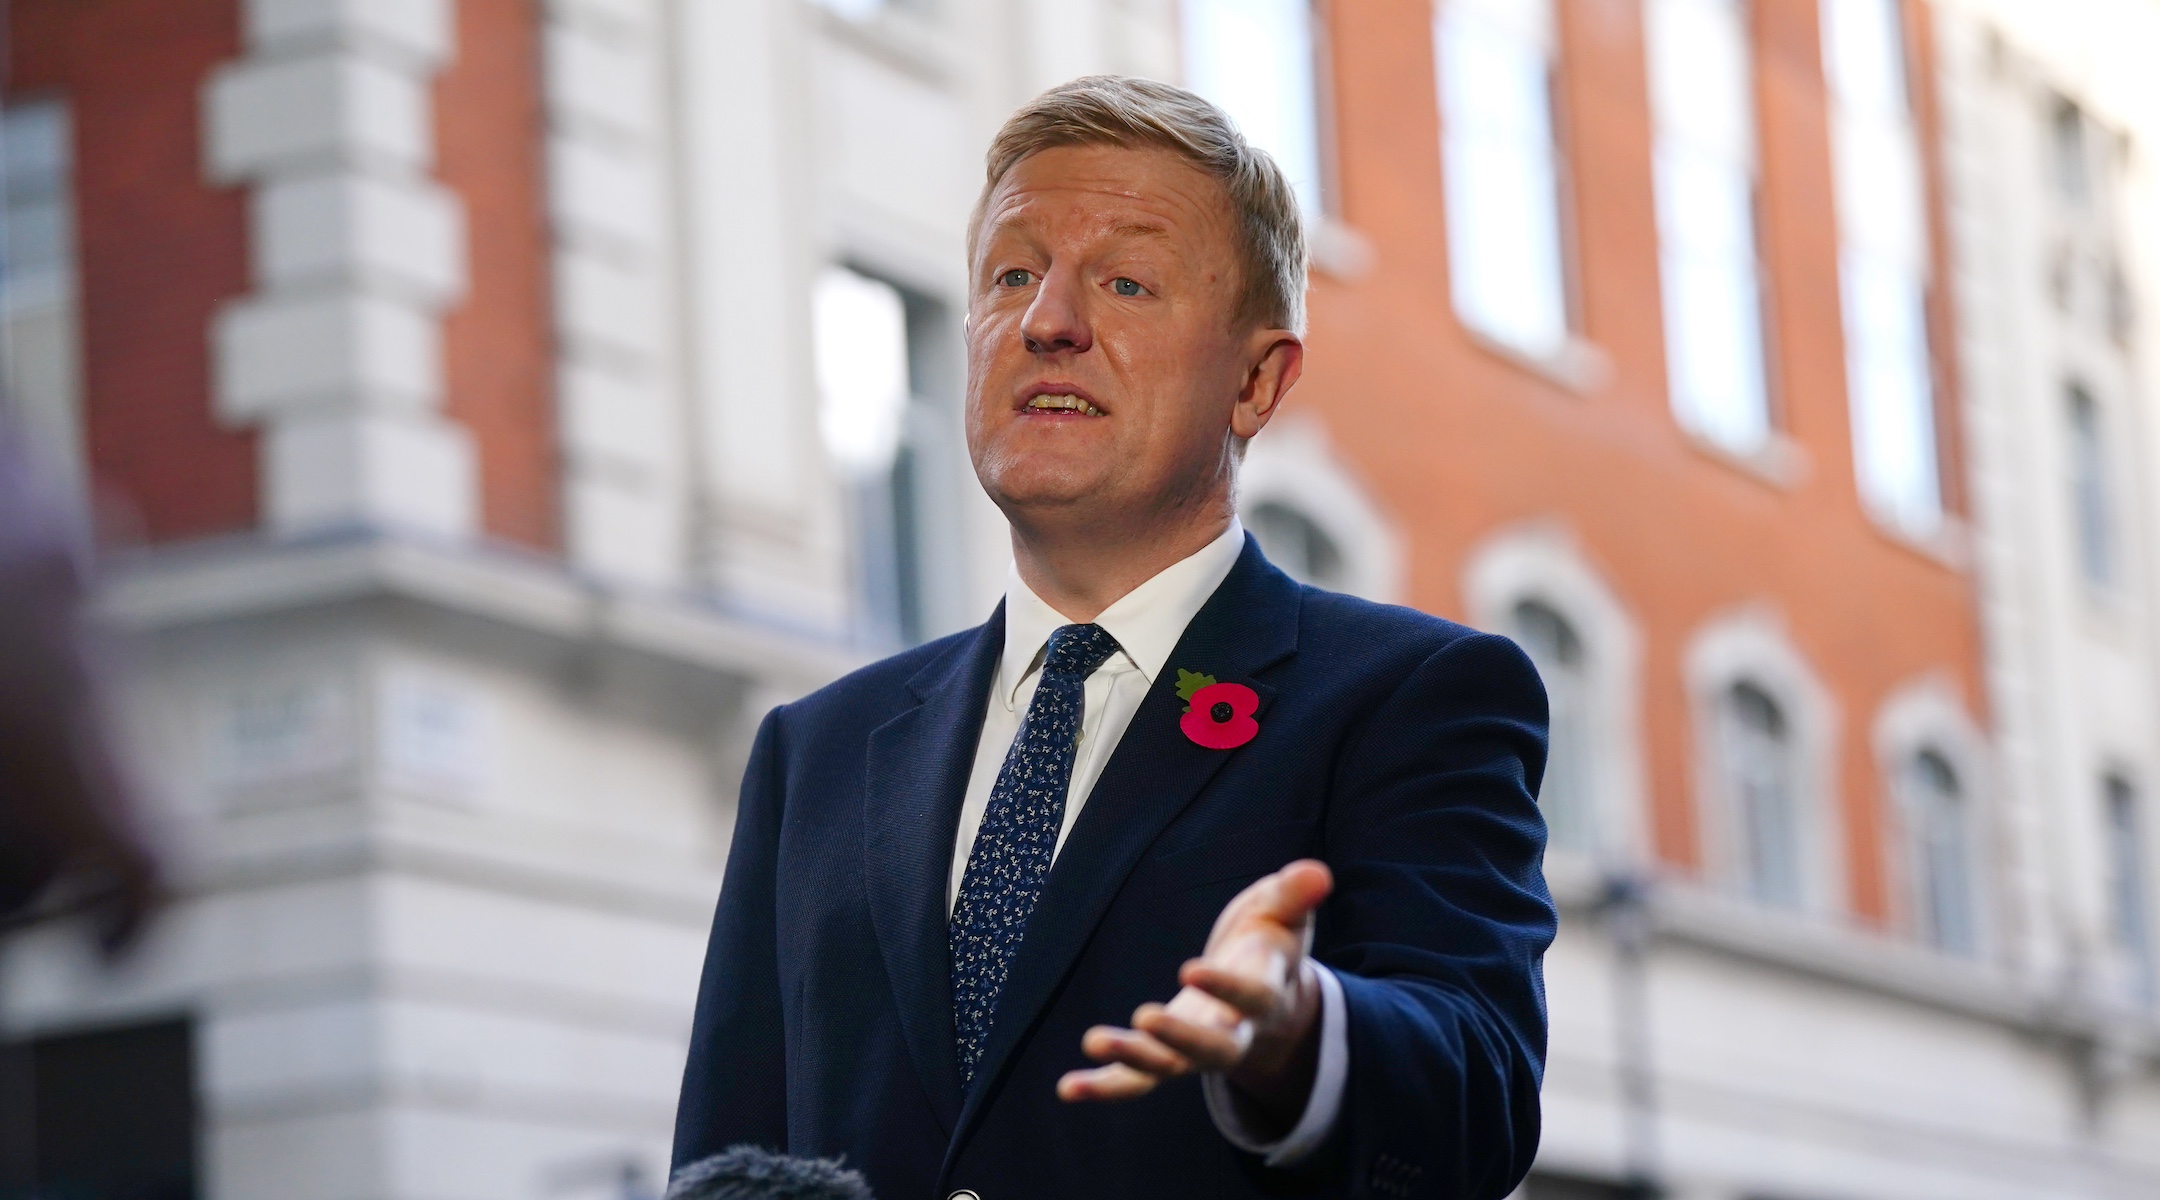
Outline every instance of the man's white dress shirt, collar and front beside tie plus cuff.
{"label": "man's white dress shirt, collar and front beside tie plus cuff", "polygon": [[[1086,805],[1095,779],[1110,762],[1125,725],[1147,697],[1156,676],[1162,673],[1186,635],[1186,626],[1201,611],[1216,587],[1229,578],[1244,550],[1244,527],[1231,518],[1220,537],[1201,546],[1190,557],[1171,563],[1160,574],[1134,587],[1117,604],[1095,617],[1110,637],[1117,639],[1117,654],[1104,660],[1086,678],[1084,704],[1080,710],[1080,745],[1074,753],[1074,777],[1065,792],[1065,822],[1058,827],[1056,850],[1065,848],[1080,807]],[[989,790],[998,783],[1004,755],[1020,736],[1020,721],[1035,699],[1035,684],[1043,669],[1043,647],[1058,626],[1074,624],[1063,613],[1045,604],[1015,568],[1004,585],[1004,654],[998,658],[998,673],[989,684],[989,708],[983,717],[983,736],[974,749],[974,768],[968,773],[968,794],[959,809],[959,840],[953,846],[953,874],[946,881],[946,913],[959,902],[959,885],[968,874],[968,855],[974,850],[974,835],[983,827],[983,812],[989,807]],[[1192,947],[1199,952],[1199,947]],[[1313,1094],[1305,1105],[1298,1124],[1279,1142],[1253,1135],[1242,1120],[1229,1083],[1220,1075],[1201,1079],[1207,1096],[1207,1112],[1216,1129],[1233,1146],[1266,1155],[1268,1165],[1290,1165],[1326,1140],[1341,1112],[1344,1083],[1350,1075],[1350,1038],[1344,1029],[1341,982],[1333,971],[1313,963],[1320,976],[1320,1071],[1313,1079]],[[1169,980],[1164,980],[1169,982]],[[1119,1014],[1123,1017],[1123,1014]]]}

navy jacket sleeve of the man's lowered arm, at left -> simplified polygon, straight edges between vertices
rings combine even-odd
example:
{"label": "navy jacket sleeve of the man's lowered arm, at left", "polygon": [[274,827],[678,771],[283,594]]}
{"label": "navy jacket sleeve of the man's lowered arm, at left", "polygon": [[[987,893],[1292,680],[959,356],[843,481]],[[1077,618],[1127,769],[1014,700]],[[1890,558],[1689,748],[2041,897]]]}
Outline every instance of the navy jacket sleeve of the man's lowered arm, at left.
{"label": "navy jacket sleeve of the man's lowered arm, at left", "polygon": [[745,1142],[786,1148],[786,1040],[773,911],[786,794],[780,712],[765,717],[743,771],[734,844],[676,1105],[674,1170]]}

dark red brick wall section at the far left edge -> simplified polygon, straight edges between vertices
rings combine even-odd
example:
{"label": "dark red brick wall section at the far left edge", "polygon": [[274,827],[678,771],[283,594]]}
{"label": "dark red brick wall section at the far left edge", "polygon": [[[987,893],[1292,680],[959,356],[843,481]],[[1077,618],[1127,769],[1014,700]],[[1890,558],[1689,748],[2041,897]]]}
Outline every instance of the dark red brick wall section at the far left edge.
{"label": "dark red brick wall section at the far left edge", "polygon": [[248,272],[244,199],[203,181],[199,97],[238,50],[235,0],[9,11],[9,97],[73,117],[91,475],[151,540],[257,520],[255,434],[210,412],[210,317]]}

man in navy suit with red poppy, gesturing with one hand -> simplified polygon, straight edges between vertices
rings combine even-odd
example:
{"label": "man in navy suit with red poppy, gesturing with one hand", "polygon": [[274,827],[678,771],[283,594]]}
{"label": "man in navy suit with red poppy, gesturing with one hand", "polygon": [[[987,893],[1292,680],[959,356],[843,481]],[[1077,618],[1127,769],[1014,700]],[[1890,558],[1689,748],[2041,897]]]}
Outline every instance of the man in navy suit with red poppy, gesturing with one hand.
{"label": "man in navy suit with red poppy, gesturing with one hand", "polygon": [[1555,928],[1544,693],[1508,639],[1300,587],[1238,527],[1302,367],[1296,196],[1197,95],[1093,76],[998,132],[968,253],[1007,598],[765,719],[676,1163],[1506,1196]]}

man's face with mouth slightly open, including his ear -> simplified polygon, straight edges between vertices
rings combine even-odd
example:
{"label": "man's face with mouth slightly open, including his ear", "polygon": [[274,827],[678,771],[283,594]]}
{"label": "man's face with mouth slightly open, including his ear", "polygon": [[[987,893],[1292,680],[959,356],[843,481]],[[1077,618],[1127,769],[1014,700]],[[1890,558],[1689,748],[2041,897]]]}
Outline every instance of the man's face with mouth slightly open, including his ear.
{"label": "man's face with mouth slightly open, including his ear", "polygon": [[1231,432],[1259,432],[1296,380],[1294,335],[1238,317],[1227,192],[1171,151],[1022,160],[970,268],[968,451],[1015,522],[1145,524],[1227,496]]}

